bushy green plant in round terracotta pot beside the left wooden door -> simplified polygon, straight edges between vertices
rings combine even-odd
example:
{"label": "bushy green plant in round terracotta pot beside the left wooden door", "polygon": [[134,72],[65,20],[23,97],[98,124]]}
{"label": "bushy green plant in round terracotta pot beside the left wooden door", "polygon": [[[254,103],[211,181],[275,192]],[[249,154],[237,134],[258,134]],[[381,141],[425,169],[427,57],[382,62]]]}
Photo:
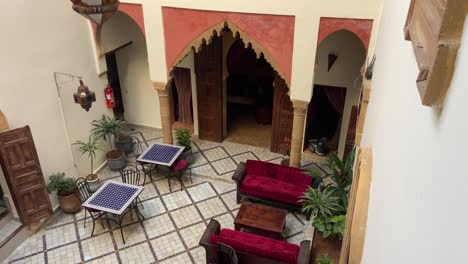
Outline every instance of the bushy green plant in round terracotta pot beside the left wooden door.
{"label": "bushy green plant in round terracotta pot beside the left wooden door", "polygon": [[75,195],[75,179],[65,177],[65,173],[55,173],[49,176],[47,191],[49,193],[57,192],[60,208],[65,213],[75,214],[81,210],[81,203]]}

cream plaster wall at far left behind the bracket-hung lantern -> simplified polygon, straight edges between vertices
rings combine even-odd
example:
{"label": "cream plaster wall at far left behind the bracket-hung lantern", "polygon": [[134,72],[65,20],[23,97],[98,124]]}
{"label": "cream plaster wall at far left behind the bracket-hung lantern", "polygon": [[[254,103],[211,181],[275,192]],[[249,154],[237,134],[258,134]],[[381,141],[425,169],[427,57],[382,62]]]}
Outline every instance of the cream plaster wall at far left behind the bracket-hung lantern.
{"label": "cream plaster wall at far left behind the bracket-hung lantern", "polygon": [[[95,57],[87,22],[67,1],[44,4],[16,0],[6,1],[2,7],[8,12],[0,17],[4,36],[0,42],[0,107],[12,128],[31,126],[46,180],[60,171],[76,177],[71,142],[86,139],[90,121],[102,113],[109,114],[104,105],[105,81],[92,67]],[[82,76],[96,92],[97,102],[89,112],[76,105],[72,97],[62,101],[70,106],[64,115],[73,126],[69,134],[54,81],[56,71]],[[63,90],[77,87],[78,82],[70,83]],[[103,161],[102,154],[98,160]],[[57,205],[55,196],[52,203]]]}

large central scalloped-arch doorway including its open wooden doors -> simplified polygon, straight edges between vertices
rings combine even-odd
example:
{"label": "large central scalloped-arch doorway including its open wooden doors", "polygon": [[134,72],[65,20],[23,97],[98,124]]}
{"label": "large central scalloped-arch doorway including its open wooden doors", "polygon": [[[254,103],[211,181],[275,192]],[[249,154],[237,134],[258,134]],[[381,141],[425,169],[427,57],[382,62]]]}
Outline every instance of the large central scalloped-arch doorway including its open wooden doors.
{"label": "large central scalloped-arch doorway including its open wooden doors", "polygon": [[[186,68],[187,73],[184,89],[178,83],[180,68]],[[252,44],[246,44],[240,33],[234,34],[227,23],[181,59],[171,76],[173,128],[181,123],[181,105],[185,104],[192,110],[185,116],[200,139],[288,152],[283,144],[292,131],[288,86],[266,56],[257,54]],[[187,94],[182,96],[185,103],[181,102],[181,93]]]}

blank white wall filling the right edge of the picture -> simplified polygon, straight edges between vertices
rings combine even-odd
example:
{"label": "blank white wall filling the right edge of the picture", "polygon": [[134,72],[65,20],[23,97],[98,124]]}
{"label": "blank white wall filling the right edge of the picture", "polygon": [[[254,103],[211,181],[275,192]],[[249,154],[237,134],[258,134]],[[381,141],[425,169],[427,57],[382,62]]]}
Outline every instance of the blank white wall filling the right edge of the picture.
{"label": "blank white wall filling the right edge of the picture", "polygon": [[363,263],[466,263],[468,21],[444,108],[422,106],[403,25],[385,1],[363,145],[373,171]]}

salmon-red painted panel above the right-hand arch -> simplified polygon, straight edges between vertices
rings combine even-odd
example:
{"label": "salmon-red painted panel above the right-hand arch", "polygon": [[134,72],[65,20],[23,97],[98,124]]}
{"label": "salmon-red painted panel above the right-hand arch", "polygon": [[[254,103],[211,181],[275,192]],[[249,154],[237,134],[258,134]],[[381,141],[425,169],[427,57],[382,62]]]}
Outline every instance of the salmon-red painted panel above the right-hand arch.
{"label": "salmon-red painted panel above the right-hand arch", "polygon": [[322,17],[320,18],[320,28],[318,37],[318,46],[320,43],[328,37],[331,33],[346,29],[358,36],[366,50],[369,48],[370,37],[372,33],[371,19],[350,19],[350,18],[332,18]]}

